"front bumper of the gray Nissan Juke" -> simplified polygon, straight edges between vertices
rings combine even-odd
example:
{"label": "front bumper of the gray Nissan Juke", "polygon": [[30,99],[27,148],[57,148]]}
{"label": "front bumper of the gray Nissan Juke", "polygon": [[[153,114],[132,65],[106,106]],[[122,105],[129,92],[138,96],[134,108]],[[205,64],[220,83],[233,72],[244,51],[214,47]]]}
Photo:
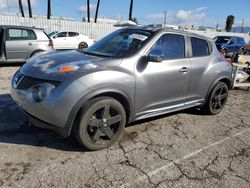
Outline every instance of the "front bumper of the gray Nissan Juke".
{"label": "front bumper of the gray Nissan Juke", "polygon": [[78,80],[66,79],[49,90],[44,100],[34,102],[31,100],[30,88],[17,89],[13,82],[10,91],[12,99],[35,126],[53,129],[62,136],[68,136],[68,129],[71,128],[68,124],[74,120],[70,114],[77,102],[89,92],[86,86]]}

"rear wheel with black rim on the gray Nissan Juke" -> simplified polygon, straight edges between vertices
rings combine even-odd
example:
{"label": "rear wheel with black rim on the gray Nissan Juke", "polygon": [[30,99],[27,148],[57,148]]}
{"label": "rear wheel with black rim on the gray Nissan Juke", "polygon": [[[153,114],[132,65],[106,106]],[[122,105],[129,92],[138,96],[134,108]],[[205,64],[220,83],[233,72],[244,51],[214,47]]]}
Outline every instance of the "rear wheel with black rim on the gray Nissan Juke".
{"label": "rear wheel with black rim on the gray Nissan Juke", "polygon": [[212,89],[204,106],[210,115],[218,114],[224,108],[228,98],[228,86],[224,82],[218,82]]}

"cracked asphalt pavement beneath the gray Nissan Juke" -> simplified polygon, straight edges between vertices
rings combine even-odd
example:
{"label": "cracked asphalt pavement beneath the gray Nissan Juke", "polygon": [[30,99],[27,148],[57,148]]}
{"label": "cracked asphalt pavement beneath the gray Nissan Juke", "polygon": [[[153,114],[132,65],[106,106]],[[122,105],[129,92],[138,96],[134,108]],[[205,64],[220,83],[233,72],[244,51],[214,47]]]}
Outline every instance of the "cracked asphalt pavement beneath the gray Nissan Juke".
{"label": "cracked asphalt pavement beneath the gray Nissan Juke", "polygon": [[9,94],[19,67],[0,67],[0,187],[250,187],[250,91],[224,110],[198,109],[128,125],[108,149],[30,126]]}

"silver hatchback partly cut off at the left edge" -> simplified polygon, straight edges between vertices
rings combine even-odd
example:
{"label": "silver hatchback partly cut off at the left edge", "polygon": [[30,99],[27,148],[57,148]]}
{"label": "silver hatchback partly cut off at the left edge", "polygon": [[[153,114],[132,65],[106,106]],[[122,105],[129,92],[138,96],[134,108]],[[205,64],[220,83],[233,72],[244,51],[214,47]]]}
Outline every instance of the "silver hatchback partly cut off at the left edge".
{"label": "silver hatchback partly cut off at the left edge", "polygon": [[52,51],[53,41],[43,29],[0,25],[0,62],[25,62],[33,55]]}

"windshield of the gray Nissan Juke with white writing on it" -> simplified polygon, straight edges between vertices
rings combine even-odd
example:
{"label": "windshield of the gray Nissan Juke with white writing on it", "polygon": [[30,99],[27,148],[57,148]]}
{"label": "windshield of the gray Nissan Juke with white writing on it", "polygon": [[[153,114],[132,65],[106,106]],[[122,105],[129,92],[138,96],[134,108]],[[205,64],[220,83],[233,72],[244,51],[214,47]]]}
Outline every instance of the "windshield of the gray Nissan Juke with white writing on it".
{"label": "windshield of the gray Nissan Juke with white writing on it", "polygon": [[137,52],[152,36],[141,29],[121,29],[96,42],[84,53],[103,57],[128,57]]}

